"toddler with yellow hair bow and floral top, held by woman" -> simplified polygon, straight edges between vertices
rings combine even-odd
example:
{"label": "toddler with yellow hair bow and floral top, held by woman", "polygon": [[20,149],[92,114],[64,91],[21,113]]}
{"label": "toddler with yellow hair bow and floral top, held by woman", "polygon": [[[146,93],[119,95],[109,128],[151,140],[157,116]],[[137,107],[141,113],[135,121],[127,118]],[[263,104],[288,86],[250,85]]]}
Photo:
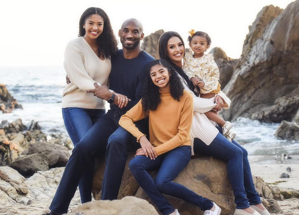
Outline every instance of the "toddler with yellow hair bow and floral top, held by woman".
{"label": "toddler with yellow hair bow and floral top, held by woman", "polygon": [[[204,54],[210,48],[211,38],[208,34],[191,30],[188,37],[189,46],[194,52],[186,53],[183,70],[186,72],[194,86],[200,89],[200,97],[212,98],[220,92],[219,69],[212,54]],[[223,135],[230,141],[235,138],[235,133],[230,131],[232,124],[224,121],[216,112],[205,113],[208,119],[215,121],[222,127]]]}

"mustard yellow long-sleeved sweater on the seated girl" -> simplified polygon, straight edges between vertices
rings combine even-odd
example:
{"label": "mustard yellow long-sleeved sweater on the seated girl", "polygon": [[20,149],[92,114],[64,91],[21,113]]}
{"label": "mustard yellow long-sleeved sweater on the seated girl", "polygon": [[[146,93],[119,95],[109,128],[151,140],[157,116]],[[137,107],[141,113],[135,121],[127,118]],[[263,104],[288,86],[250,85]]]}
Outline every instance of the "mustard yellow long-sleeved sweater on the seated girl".
{"label": "mustard yellow long-sleeved sweater on the seated girl", "polygon": [[145,113],[141,100],[124,114],[119,124],[137,138],[145,136],[134,122],[149,116],[150,143],[158,155],[178,146],[191,145],[190,129],[193,117],[193,97],[186,90],[180,101],[174,100],[170,92],[160,94],[161,103],[154,111]]}

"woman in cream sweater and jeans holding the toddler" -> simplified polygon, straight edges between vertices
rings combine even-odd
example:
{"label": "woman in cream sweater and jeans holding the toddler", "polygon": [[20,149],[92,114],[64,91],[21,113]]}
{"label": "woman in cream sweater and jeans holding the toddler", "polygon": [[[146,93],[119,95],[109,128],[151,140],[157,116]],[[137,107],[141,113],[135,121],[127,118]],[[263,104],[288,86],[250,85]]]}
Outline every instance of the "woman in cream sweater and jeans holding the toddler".
{"label": "woman in cream sweater and jeans holding the toddler", "polygon": [[182,70],[182,59],[185,55],[185,46],[182,37],[178,33],[169,31],[161,35],[158,51],[160,59],[164,59],[173,65],[181,76],[185,89],[193,94],[194,117],[192,121],[191,136],[195,138],[194,151],[227,162],[228,176],[234,191],[235,203],[237,205],[234,214],[268,215],[269,212],[263,204],[261,204],[259,194],[254,188],[246,149],[241,147],[234,140],[232,142],[228,141],[221,134],[221,130],[217,130],[218,128],[215,127],[215,124],[213,125],[203,114],[213,107],[216,111],[219,111],[221,108],[228,108],[230,100],[222,92],[217,94],[215,98],[217,105],[213,101],[213,98],[197,97],[198,91],[194,89],[194,85]]}

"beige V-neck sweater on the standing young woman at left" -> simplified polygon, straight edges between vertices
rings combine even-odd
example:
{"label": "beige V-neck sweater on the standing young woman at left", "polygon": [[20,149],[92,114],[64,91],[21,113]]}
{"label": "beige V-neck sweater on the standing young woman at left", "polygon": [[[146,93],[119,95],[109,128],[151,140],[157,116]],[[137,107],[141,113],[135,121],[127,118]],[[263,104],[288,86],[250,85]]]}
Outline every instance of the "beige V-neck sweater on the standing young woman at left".
{"label": "beige V-neck sweater on the standing young woman at left", "polygon": [[63,90],[62,108],[105,109],[105,101],[86,93],[86,90],[94,89],[94,82],[109,84],[110,59],[98,58],[86,40],[78,37],[65,48],[64,69],[71,83]]}

